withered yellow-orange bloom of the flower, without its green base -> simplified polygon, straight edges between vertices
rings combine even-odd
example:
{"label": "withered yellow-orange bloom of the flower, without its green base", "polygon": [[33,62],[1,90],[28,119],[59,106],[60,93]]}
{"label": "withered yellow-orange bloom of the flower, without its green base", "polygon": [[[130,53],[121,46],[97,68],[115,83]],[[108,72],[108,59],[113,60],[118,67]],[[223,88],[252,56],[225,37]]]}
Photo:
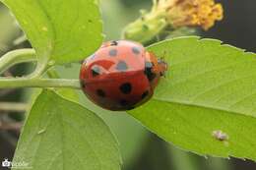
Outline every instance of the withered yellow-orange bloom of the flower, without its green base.
{"label": "withered yellow-orange bloom of the flower, without its green base", "polygon": [[223,20],[223,6],[214,0],[155,0],[153,11],[165,11],[168,23],[174,28],[212,28]]}

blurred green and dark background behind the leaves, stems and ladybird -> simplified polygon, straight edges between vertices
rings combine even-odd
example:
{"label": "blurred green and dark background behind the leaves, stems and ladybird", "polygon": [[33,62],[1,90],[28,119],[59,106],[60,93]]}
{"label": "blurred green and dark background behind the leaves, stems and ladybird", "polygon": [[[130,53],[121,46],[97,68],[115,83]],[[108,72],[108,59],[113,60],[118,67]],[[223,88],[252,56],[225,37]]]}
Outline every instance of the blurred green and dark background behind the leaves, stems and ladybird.
{"label": "blurred green and dark background behind the leaves, stems and ladybird", "polygon": [[[256,2],[253,0],[224,4],[224,21],[207,32],[199,30],[204,37],[214,37],[249,51],[256,51]],[[139,17],[140,9],[150,9],[151,0],[101,0],[105,39],[119,39],[121,30]],[[0,55],[16,48],[30,47],[23,41],[22,30],[8,10],[0,5]],[[32,64],[21,64],[12,68],[5,76],[29,73]],[[78,78],[80,66],[56,68],[63,78]],[[28,103],[32,89],[1,89],[1,101]],[[146,130],[139,122],[123,113],[111,113],[99,109],[80,92],[80,102],[102,117],[119,141],[124,170],[255,170],[256,163],[235,158],[221,159],[198,156],[163,142]],[[0,108],[0,161],[12,159],[20,134],[23,112],[10,112]],[[1,169],[1,167],[0,167]]]}

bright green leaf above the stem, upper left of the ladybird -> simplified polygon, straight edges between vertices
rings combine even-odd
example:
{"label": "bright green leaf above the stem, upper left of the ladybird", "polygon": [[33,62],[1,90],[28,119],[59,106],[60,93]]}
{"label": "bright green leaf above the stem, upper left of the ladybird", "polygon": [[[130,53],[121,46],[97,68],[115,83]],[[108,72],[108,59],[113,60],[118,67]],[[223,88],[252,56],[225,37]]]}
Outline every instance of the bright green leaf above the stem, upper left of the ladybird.
{"label": "bright green leaf above the stem, upper left of the ladybird", "polygon": [[82,60],[102,41],[96,0],[0,0],[27,34],[40,60],[64,64]]}

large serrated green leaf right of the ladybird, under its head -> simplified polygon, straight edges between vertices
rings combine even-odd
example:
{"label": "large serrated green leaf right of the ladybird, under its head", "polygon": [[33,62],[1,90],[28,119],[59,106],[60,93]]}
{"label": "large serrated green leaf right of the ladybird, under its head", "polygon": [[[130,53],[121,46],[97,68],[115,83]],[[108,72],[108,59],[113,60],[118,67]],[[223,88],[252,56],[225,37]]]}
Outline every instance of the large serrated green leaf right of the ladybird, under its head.
{"label": "large serrated green leaf right of the ladybird, under its head", "polygon": [[199,37],[149,50],[165,57],[168,72],[154,98],[129,113],[186,150],[256,160],[256,55]]}

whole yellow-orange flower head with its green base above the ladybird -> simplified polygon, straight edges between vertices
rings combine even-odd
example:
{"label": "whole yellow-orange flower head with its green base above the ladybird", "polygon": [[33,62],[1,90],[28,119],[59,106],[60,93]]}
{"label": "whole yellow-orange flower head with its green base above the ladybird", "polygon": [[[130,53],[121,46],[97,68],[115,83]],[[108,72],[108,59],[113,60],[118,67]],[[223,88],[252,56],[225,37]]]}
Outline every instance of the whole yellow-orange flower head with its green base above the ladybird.
{"label": "whole yellow-orange flower head with its green base above the ladybird", "polygon": [[[165,38],[179,28],[212,28],[223,20],[223,6],[215,0],[154,0],[150,12],[123,30],[123,38],[149,43]],[[172,32],[171,32],[172,31]]]}

